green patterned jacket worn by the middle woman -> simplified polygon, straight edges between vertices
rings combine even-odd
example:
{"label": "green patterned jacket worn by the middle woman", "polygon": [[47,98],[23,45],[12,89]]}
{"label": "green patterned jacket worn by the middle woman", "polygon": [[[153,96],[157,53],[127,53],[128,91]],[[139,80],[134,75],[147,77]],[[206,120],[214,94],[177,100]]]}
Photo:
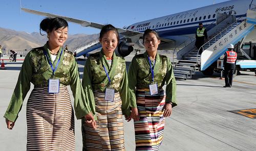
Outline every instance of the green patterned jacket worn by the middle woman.
{"label": "green patterned jacket worn by the middle woman", "polygon": [[[102,64],[109,72],[110,84]],[[110,67],[102,51],[90,55],[84,66],[82,86],[94,115],[95,100],[93,90],[105,92],[107,86],[119,92],[122,100],[122,113],[127,116],[131,114],[126,65],[123,57],[118,57],[114,53],[113,62]],[[96,118],[96,116],[94,117]]]}

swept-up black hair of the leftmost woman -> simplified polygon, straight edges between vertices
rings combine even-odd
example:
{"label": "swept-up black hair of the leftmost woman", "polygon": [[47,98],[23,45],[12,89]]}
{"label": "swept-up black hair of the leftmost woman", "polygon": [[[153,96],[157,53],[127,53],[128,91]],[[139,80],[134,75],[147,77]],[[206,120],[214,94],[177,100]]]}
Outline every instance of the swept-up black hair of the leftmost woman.
{"label": "swept-up black hair of the leftmost woman", "polygon": [[53,30],[59,29],[61,27],[64,27],[64,28],[69,27],[69,24],[65,19],[62,19],[59,17],[56,17],[56,18],[47,17],[43,19],[40,23],[40,34],[41,34],[41,30],[45,32],[48,32],[48,31],[52,32]]}

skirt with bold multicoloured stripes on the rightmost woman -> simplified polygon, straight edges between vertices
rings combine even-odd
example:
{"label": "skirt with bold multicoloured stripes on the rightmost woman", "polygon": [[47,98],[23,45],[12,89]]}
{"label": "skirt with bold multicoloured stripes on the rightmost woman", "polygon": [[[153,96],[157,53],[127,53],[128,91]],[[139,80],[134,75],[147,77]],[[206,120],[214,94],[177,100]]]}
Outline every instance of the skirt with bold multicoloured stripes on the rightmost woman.
{"label": "skirt with bold multicoloured stripes on the rightmost woman", "polygon": [[158,150],[163,140],[165,93],[150,95],[149,89],[136,91],[140,120],[134,121],[136,150]]}

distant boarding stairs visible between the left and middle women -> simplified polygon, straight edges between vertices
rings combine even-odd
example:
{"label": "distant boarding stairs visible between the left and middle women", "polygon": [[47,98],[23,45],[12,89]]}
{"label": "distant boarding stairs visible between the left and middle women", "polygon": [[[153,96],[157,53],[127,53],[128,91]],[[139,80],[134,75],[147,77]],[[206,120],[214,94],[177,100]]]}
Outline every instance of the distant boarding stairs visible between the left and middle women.
{"label": "distant boarding stairs visible between the left and middle women", "polygon": [[97,48],[100,48],[101,44],[99,42],[99,39],[94,39],[90,42],[84,43],[82,45],[79,45],[75,47],[72,52],[74,52],[76,57],[80,57],[83,55],[88,54],[91,51],[94,51]]}

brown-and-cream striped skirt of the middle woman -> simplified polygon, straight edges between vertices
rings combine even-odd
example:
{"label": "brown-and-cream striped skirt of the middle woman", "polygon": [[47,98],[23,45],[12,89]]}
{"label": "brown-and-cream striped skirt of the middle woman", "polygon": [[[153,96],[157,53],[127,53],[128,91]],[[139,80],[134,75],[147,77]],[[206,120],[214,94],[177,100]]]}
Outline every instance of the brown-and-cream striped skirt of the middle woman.
{"label": "brown-and-cream striped skirt of the middle woman", "polygon": [[115,93],[114,101],[104,98],[104,92],[94,91],[96,130],[82,119],[83,150],[125,150],[120,95]]}

